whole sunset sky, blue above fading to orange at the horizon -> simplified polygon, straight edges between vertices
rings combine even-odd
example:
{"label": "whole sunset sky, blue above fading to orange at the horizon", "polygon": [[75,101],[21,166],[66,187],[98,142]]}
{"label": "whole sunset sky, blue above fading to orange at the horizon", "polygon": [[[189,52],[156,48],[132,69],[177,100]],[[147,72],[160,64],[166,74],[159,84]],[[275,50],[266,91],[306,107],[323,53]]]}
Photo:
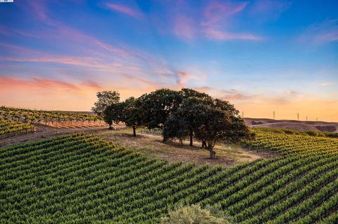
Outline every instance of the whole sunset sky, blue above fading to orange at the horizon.
{"label": "whole sunset sky, blue above fading to orange at the horizon", "polygon": [[338,121],[338,1],[0,3],[0,105],[194,88],[244,117]]}

